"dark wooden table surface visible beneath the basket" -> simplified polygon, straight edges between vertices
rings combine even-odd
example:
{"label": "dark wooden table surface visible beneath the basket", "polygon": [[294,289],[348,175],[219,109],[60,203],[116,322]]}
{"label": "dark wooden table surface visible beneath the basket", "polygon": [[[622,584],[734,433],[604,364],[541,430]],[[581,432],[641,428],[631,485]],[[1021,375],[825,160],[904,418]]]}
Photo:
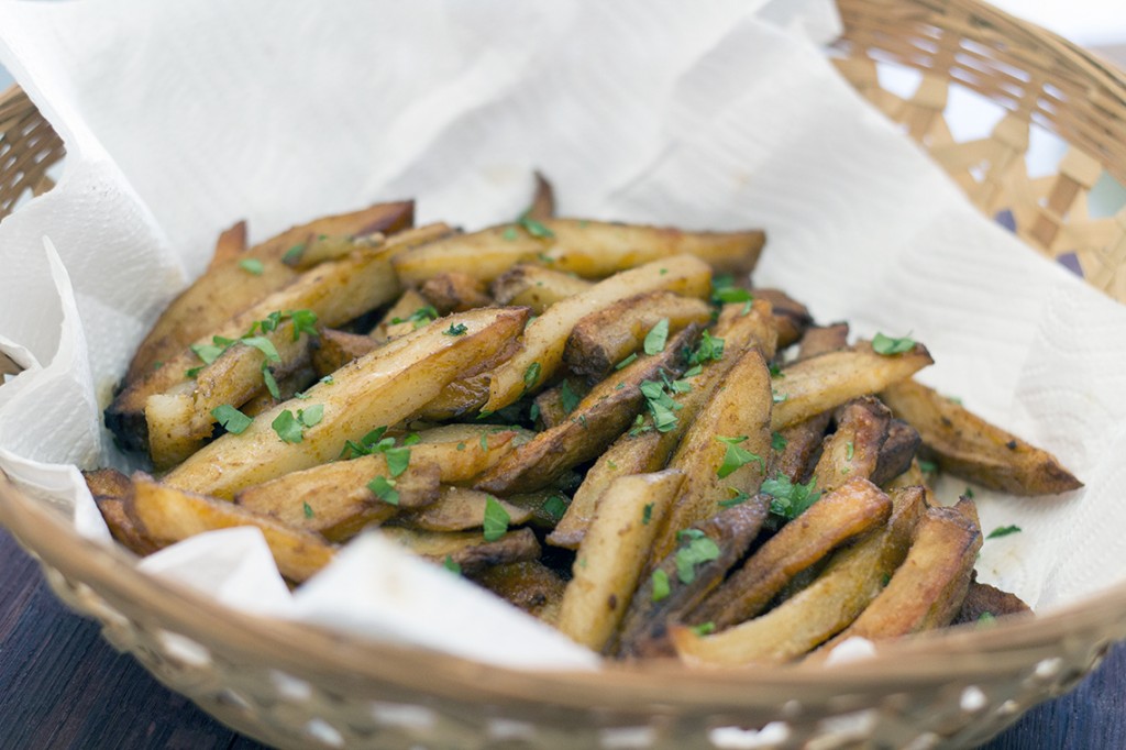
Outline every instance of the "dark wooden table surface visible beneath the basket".
{"label": "dark wooden table surface visible beneath the basket", "polygon": [[[1126,648],[1074,693],[1027,714],[990,750],[1126,748]],[[55,598],[0,530],[0,749],[260,750],[163,688],[98,625]]]}

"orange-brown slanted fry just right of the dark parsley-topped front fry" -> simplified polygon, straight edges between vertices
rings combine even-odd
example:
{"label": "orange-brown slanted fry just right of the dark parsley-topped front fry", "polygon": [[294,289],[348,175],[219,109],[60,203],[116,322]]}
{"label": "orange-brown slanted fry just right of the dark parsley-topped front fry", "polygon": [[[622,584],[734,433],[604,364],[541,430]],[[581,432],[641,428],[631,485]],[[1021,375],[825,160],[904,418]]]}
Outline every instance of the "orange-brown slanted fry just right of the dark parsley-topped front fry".
{"label": "orange-brown slanted fry just right of the dark parsley-topped front fry", "polygon": [[882,525],[892,501],[872,482],[852,477],[786,524],[747,564],[691,614],[689,622],[725,628],[762,611],[798,572],[844,542]]}

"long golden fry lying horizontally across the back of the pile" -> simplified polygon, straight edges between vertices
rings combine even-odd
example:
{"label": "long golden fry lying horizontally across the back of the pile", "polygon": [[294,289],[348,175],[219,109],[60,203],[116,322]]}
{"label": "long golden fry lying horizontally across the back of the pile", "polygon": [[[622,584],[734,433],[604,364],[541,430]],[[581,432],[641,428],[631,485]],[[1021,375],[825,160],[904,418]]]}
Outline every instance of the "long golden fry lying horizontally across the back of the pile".
{"label": "long golden fry lying horizontally across the back of the pile", "polygon": [[605,278],[622,270],[679,255],[696,256],[716,270],[749,274],[766,242],[761,231],[682,232],[628,224],[553,218],[535,227],[520,223],[449,238],[395,258],[403,284],[419,285],[452,268],[491,282],[517,264],[548,265],[583,278]]}

